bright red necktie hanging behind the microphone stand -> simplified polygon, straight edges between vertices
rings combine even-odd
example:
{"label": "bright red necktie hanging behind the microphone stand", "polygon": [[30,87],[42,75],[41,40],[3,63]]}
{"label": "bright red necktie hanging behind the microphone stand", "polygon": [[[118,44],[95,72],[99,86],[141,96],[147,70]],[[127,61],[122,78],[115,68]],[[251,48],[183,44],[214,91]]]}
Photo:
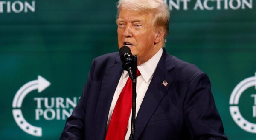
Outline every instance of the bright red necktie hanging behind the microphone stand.
{"label": "bright red necktie hanging behind the microphone stand", "polygon": [[[140,71],[137,68],[137,76]],[[122,89],[116,106],[114,108],[111,120],[108,126],[106,140],[124,140],[127,131],[127,125],[131,114],[132,102],[132,81],[128,78],[125,87]]]}

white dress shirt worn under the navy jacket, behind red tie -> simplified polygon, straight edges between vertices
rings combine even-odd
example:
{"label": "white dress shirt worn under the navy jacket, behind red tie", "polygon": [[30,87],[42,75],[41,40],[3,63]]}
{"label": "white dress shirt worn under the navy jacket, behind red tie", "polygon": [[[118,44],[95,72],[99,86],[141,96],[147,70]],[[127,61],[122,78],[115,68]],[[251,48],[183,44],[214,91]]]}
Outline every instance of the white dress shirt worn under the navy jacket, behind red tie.
{"label": "white dress shirt worn under the navy jacket, behind red tie", "polygon": [[[143,98],[146,94],[146,91],[148,90],[148,86],[151,82],[154,71],[156,70],[157,64],[160,60],[160,57],[162,56],[162,53],[163,53],[163,49],[161,48],[151,59],[149,59],[147,62],[141,64],[140,66],[137,66],[141,75],[137,77],[137,83],[136,83],[136,92],[137,92],[136,116],[140,109],[140,105],[143,101]],[[119,83],[116,87],[116,91],[114,93],[113,100],[112,100],[112,103],[111,103],[111,106],[109,109],[107,130],[108,130],[108,126],[109,126],[109,123],[111,120],[111,116],[112,116],[114,107],[116,105],[116,101],[117,101],[123,87],[125,86],[128,77],[129,77],[129,75],[128,75],[127,71],[124,70],[120,77]],[[130,134],[131,134],[131,114],[130,114],[130,118],[129,118],[129,122],[128,122],[128,126],[127,126],[125,140],[129,139]]]}

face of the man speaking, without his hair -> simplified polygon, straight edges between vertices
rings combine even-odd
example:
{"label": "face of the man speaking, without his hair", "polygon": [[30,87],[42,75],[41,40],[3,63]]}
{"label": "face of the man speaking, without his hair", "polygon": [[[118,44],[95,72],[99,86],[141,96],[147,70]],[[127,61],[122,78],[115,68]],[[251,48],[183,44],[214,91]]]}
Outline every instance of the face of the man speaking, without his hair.
{"label": "face of the man speaking, without his hair", "polygon": [[120,10],[116,21],[118,47],[128,46],[131,53],[137,55],[137,65],[148,61],[162,47],[156,45],[157,33],[152,22],[152,14],[125,9]]}

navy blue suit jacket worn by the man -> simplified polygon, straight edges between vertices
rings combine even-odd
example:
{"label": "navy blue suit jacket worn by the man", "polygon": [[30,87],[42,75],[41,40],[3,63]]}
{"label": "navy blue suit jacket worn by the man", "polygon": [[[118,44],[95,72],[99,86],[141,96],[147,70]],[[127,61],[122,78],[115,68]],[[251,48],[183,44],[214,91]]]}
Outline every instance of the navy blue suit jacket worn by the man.
{"label": "navy blue suit jacket worn by the man", "polygon": [[[61,140],[105,139],[108,112],[122,70],[118,53],[93,60]],[[135,140],[227,140],[208,76],[163,49],[137,114]]]}

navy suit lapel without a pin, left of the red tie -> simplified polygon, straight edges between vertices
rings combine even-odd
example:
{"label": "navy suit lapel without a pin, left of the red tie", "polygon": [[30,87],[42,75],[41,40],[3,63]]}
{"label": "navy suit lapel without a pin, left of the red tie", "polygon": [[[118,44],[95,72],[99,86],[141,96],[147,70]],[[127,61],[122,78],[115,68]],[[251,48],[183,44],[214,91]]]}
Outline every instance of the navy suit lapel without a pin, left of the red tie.
{"label": "navy suit lapel without a pin, left of the red tie", "polygon": [[114,92],[116,90],[119,79],[122,75],[122,63],[110,65],[106,68],[105,75],[102,81],[99,102],[96,111],[96,140],[105,139],[106,125],[108,121],[108,112],[111,106]]}

